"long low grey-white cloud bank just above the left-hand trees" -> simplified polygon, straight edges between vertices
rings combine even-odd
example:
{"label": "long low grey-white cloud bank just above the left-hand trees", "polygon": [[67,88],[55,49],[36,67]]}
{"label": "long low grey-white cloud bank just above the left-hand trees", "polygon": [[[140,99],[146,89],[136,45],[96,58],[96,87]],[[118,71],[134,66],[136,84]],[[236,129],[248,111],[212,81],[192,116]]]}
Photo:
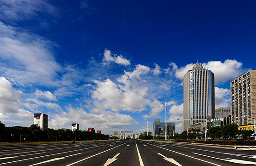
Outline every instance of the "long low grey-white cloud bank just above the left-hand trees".
{"label": "long low grey-white cloud bank just above the left-hand trees", "polygon": [[[91,114],[80,108],[67,108],[68,113],[52,114],[49,121],[50,128],[70,128],[71,123],[79,123],[81,129],[95,128],[96,130],[113,131],[113,128],[138,125],[130,115],[104,111],[100,114]],[[111,132],[112,133],[112,132]]]}

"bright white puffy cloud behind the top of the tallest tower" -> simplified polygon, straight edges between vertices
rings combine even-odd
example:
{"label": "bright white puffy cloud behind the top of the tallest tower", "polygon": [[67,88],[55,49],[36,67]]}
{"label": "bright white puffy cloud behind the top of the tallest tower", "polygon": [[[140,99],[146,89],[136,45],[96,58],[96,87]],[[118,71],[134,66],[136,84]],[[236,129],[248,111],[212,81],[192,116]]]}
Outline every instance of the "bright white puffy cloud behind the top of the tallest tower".
{"label": "bright white puffy cloud behind the top of the tallest tower", "polygon": [[[187,64],[176,70],[175,76],[179,79],[183,79],[187,71],[191,70],[195,64]],[[221,61],[210,61],[203,63],[203,67],[211,70],[215,76],[215,83],[226,83],[236,77],[239,77],[249,69],[243,69],[242,63],[236,60],[227,59],[222,63]]]}

